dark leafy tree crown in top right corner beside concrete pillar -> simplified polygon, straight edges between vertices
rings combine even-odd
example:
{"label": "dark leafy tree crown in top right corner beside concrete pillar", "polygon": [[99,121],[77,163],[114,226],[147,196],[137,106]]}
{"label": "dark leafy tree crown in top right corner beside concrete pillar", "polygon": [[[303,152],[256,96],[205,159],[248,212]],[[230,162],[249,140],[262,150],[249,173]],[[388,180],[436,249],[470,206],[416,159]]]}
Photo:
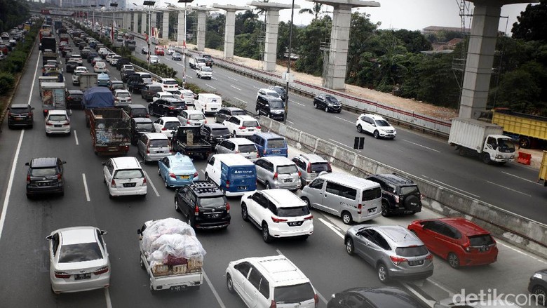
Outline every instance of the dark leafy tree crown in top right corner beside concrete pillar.
{"label": "dark leafy tree crown in top right corner beside concrete pillar", "polygon": [[547,0],[541,0],[539,4],[528,4],[526,10],[517,17],[518,22],[513,24],[513,39],[525,41],[547,42]]}

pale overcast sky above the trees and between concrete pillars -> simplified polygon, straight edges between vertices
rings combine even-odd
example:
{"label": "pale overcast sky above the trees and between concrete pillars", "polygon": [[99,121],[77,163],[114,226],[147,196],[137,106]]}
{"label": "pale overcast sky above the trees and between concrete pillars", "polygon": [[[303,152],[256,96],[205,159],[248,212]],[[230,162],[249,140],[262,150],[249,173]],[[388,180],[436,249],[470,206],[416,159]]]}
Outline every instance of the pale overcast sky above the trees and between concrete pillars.
{"label": "pale overcast sky above the trees and between concrete pillars", "polygon": [[[142,0],[126,0],[130,6],[132,2],[141,4]],[[281,4],[291,4],[291,0],[270,0]],[[461,27],[459,16],[459,0],[377,0],[379,8],[354,8],[353,11],[370,14],[372,22],[381,22],[380,29],[407,29],[421,30],[428,26]],[[166,3],[176,4],[177,0],[158,0],[157,6],[166,6]],[[245,6],[250,0],[194,0],[189,6],[211,6],[212,4],[234,4]],[[466,1],[468,6],[473,4]],[[313,2],[295,0],[295,5],[301,8],[311,8]],[[512,4],[501,8],[499,31],[511,34],[511,28],[517,21],[521,11],[525,11],[527,4]],[[295,10],[295,25],[308,25],[313,16],[311,14],[299,14]],[[332,6],[323,6],[323,11],[331,12]],[[224,11],[221,11],[224,13]],[[506,18],[503,18],[506,17]],[[290,20],[290,9],[281,11],[282,21]],[[465,18],[466,27],[471,27],[471,18]]]}

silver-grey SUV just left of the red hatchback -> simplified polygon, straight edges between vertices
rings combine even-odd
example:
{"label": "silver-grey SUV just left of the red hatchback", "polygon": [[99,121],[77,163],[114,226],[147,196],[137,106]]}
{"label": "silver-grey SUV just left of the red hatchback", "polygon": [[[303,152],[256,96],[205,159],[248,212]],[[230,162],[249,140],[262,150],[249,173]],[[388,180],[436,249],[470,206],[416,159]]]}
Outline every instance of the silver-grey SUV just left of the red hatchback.
{"label": "silver-grey SUV just left of the red hatchback", "polygon": [[401,226],[358,225],[344,236],[346,252],[373,267],[378,279],[426,279],[433,275],[433,255],[416,235]]}

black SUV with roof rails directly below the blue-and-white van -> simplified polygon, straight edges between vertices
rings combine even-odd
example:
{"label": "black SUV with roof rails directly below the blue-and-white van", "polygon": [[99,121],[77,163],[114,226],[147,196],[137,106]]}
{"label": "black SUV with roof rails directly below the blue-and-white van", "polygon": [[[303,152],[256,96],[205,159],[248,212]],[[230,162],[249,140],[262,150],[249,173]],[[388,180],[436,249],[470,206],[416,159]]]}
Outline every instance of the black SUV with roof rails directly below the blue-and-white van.
{"label": "black SUV with roof rails directly below the blue-and-white van", "polygon": [[194,181],[175,192],[175,210],[187,217],[194,229],[227,228],[230,225],[230,204],[215,183]]}

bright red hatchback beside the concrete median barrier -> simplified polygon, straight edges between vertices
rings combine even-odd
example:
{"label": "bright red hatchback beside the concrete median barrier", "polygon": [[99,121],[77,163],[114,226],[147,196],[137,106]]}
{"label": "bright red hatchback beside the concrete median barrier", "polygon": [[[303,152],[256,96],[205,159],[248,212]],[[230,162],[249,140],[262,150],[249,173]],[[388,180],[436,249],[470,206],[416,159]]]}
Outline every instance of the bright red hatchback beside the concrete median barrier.
{"label": "bright red hatchback beside the concrete median barrier", "polygon": [[498,248],[489,232],[461,217],[415,220],[408,229],[454,269],[496,262]]}

